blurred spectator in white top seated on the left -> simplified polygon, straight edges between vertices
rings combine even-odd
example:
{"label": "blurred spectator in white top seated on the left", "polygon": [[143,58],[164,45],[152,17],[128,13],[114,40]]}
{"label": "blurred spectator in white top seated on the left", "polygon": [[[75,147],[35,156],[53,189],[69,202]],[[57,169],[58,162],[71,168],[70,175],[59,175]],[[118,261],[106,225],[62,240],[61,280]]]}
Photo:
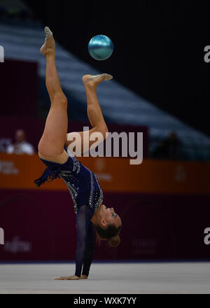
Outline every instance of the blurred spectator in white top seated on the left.
{"label": "blurred spectator in white top seated on the left", "polygon": [[34,154],[34,147],[27,143],[27,137],[23,130],[17,130],[15,132],[15,144],[11,144],[7,148],[8,154]]}

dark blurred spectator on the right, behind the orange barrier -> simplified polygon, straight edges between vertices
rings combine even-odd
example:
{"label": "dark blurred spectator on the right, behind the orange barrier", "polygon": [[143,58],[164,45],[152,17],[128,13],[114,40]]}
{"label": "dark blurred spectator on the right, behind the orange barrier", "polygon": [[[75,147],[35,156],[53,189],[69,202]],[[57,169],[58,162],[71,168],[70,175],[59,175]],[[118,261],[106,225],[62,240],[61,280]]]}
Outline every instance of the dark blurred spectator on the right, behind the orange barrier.
{"label": "dark blurred spectator on the right, behind the orange barrier", "polygon": [[159,160],[181,160],[181,141],[176,132],[171,132],[166,139],[160,141],[152,157]]}

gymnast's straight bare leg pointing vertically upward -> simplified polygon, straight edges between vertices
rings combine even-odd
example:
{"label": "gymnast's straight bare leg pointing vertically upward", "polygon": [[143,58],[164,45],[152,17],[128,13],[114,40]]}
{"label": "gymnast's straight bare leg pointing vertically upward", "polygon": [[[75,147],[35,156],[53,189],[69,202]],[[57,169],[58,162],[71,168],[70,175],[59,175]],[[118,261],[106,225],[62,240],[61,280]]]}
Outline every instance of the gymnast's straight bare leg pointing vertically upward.
{"label": "gymnast's straight bare leg pointing vertically upward", "polygon": [[[51,106],[43,136],[38,144],[38,153],[43,159],[52,158],[49,160],[53,160],[55,158],[55,162],[64,163],[68,159],[68,155],[64,151],[68,129],[67,99],[62,91],[56,69],[55,40],[48,27],[45,28],[45,34],[45,43],[41,48],[41,53],[46,58],[46,87]],[[61,161],[57,161],[56,158],[61,159]]]}

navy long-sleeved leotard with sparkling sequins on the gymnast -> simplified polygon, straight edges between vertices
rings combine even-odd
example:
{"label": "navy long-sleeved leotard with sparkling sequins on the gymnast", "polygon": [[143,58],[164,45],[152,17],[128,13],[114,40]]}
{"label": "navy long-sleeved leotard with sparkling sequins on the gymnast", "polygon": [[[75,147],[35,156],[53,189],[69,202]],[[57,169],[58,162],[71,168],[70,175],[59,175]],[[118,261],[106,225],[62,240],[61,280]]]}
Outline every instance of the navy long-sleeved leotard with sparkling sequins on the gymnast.
{"label": "navy long-sleeved leotard with sparkling sequins on the gymnast", "polygon": [[[66,149],[65,149],[66,150]],[[36,186],[45,181],[62,178],[69,189],[76,212],[77,248],[76,248],[76,276],[81,273],[88,276],[94,253],[94,226],[92,216],[103,202],[102,188],[99,186],[93,172],[83,166],[77,158],[71,157],[63,165],[48,160],[42,160],[48,167],[43,176],[36,180]],[[82,272],[83,269],[83,272]]]}

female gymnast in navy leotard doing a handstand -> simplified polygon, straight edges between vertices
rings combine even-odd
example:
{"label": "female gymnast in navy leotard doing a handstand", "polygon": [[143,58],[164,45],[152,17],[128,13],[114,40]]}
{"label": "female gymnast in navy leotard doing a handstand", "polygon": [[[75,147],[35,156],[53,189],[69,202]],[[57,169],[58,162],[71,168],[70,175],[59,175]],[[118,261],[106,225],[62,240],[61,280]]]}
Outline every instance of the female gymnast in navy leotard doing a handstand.
{"label": "female gymnast in navy leotard doing a handstand", "polygon": [[[69,141],[70,134],[67,134],[67,100],[62,92],[55,64],[55,40],[48,27],[45,27],[45,36],[41,54],[46,58],[46,87],[51,107],[43,136],[38,144],[38,155],[47,169],[35,183],[39,187],[45,181],[62,178],[69,189],[76,212],[76,272],[73,276],[60,277],[56,280],[87,279],[94,253],[94,228],[99,239],[108,240],[109,245],[116,247],[120,244],[119,233],[122,222],[114,209],[108,209],[103,204],[102,188],[94,173],[67,150],[72,144],[72,141]],[[94,132],[102,133],[103,141],[106,139],[108,129],[97,99],[97,85],[103,80],[112,78],[108,74],[83,76],[87,94],[87,115],[92,125],[89,133],[90,135]],[[85,149],[83,144],[85,133],[79,133],[82,152]],[[91,147],[94,142],[89,140],[89,144]]]}

